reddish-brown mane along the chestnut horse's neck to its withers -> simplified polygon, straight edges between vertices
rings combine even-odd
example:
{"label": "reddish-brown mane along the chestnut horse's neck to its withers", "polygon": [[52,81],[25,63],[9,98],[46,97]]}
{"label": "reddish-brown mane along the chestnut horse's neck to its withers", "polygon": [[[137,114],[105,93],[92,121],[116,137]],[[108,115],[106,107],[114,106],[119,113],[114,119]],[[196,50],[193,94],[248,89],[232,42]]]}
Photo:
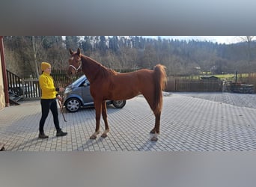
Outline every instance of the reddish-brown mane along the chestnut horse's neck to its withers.
{"label": "reddish-brown mane along the chestnut horse's neck to its withers", "polygon": [[99,62],[88,56],[82,55],[82,58],[85,58],[85,61],[93,61],[94,68],[98,70],[97,76],[102,76],[103,78],[106,78],[108,76],[114,76],[118,74],[115,70],[103,66],[103,64],[100,64]]}

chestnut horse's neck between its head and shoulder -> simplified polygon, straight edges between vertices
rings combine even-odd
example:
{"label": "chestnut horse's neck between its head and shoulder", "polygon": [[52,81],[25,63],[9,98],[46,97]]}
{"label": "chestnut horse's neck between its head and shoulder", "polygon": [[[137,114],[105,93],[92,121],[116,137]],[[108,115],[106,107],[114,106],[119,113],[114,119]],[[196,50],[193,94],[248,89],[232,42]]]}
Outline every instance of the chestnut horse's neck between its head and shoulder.
{"label": "chestnut horse's neck between its head and shoulder", "polygon": [[85,76],[88,78],[89,82],[94,82],[94,79],[99,74],[100,64],[93,61],[91,58],[82,56],[82,71],[85,73]]}

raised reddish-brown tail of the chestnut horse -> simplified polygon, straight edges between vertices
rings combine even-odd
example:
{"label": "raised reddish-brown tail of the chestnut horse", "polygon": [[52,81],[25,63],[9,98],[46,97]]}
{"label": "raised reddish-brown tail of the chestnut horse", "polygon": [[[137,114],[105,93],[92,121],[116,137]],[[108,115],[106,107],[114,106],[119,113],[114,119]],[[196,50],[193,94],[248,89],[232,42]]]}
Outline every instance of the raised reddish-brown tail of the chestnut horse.
{"label": "raised reddish-brown tail of the chestnut horse", "polygon": [[162,91],[166,87],[165,66],[157,64],[154,69],[155,99],[153,102],[153,113],[158,114],[162,110]]}

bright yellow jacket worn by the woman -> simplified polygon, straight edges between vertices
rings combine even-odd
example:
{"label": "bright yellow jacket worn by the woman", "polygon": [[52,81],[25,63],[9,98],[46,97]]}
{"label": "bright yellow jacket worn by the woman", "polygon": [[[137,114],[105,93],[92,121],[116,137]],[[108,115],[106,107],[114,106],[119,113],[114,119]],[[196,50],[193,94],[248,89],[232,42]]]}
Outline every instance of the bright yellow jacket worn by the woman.
{"label": "bright yellow jacket worn by the woman", "polygon": [[39,85],[42,91],[41,99],[55,99],[58,88],[55,88],[52,76],[43,72],[39,77]]}

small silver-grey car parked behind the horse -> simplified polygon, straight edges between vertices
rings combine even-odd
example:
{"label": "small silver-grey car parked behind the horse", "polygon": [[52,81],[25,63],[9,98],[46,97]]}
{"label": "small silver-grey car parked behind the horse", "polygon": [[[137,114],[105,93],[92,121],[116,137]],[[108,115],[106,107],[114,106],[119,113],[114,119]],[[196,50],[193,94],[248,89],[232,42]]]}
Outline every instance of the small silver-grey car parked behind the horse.
{"label": "small silver-grey car parked behind the horse", "polygon": [[[79,108],[94,107],[94,99],[90,93],[90,82],[85,75],[81,76],[64,91],[64,106],[67,111],[75,112]],[[126,100],[108,100],[107,105],[114,105],[115,108],[123,108]]]}

